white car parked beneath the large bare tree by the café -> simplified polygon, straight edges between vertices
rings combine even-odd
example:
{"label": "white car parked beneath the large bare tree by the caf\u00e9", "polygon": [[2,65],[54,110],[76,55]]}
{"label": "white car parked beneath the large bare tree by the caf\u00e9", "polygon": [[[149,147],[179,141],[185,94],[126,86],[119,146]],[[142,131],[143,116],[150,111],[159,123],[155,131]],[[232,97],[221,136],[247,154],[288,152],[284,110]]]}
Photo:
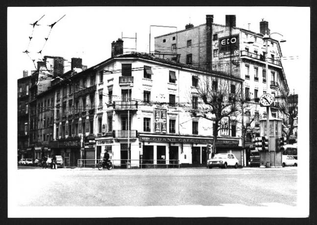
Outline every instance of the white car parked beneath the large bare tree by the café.
{"label": "white car parked beneath the large bare tree by the caf\u00e9", "polygon": [[212,167],[227,168],[228,166],[234,166],[237,169],[238,165],[238,159],[231,153],[215,154],[213,158],[207,160],[207,167],[209,169]]}

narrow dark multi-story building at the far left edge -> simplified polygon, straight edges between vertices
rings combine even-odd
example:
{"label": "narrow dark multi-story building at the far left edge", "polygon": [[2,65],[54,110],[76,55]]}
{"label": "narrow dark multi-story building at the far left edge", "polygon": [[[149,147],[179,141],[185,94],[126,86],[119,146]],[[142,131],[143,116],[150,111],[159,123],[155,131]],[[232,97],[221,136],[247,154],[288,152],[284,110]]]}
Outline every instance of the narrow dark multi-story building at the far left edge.
{"label": "narrow dark multi-story building at the far left edge", "polygon": [[29,87],[30,76],[26,70],[23,71],[23,78],[18,79],[18,160],[30,158],[28,149],[29,136]]}

